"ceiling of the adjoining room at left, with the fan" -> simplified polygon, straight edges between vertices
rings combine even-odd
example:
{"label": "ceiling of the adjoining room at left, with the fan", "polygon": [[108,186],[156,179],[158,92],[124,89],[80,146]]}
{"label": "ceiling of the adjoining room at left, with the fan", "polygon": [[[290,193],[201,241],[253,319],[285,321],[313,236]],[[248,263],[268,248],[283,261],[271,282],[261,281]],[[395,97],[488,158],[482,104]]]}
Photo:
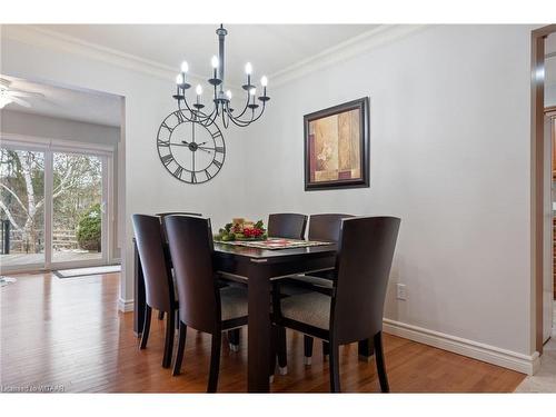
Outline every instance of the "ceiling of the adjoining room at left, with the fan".
{"label": "ceiling of the adjoining room at left, with the fan", "polygon": [[60,119],[119,127],[121,97],[97,91],[61,88],[0,75],[11,81],[10,89],[39,92],[43,97],[24,98],[31,107],[9,103],[6,110],[50,116]]}

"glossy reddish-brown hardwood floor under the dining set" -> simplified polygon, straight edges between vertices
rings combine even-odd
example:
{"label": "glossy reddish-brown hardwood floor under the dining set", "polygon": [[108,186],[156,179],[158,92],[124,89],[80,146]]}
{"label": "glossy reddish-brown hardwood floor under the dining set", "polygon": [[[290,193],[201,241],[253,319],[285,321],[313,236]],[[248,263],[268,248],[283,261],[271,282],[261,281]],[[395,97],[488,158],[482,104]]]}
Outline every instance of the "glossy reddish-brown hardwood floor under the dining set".
{"label": "glossy reddish-brown hardwood floor under the dining set", "polygon": [[[50,386],[72,393],[202,393],[210,338],[188,331],[182,374],[161,367],[163,321],[153,315],[146,350],[139,350],[132,315],[117,310],[119,274],[59,279],[51,274],[17,276],[1,295],[1,385]],[[245,393],[246,330],[238,353],[222,339],[219,393]],[[302,365],[302,336],[288,332],[288,370],[272,391],[328,391],[328,361],[315,345],[311,367]],[[378,393],[374,361],[357,358],[357,345],[340,350],[344,391]],[[524,375],[464,356],[385,335],[393,393],[508,393]]]}

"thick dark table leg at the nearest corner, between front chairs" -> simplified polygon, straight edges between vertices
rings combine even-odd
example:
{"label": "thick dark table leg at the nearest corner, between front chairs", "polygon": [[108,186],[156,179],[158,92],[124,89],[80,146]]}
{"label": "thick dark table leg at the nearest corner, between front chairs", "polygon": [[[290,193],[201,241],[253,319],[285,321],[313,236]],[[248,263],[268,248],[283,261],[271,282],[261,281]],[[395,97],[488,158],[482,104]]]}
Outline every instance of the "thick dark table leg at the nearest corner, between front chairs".
{"label": "thick dark table leg at the nearest corner, between front chairs", "polygon": [[270,277],[265,265],[251,264],[248,290],[247,390],[268,393],[270,368]]}

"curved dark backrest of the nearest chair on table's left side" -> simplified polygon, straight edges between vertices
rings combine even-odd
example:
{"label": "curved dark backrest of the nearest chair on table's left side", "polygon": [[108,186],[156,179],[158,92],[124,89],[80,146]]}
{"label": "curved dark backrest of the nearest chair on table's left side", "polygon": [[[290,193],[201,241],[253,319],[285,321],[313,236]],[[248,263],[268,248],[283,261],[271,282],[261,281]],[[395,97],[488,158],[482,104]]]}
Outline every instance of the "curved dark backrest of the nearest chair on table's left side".
{"label": "curved dark backrest of the nearest chair on table's left side", "polygon": [[179,318],[197,330],[216,334],[221,316],[210,220],[168,216],[165,226],[178,287]]}

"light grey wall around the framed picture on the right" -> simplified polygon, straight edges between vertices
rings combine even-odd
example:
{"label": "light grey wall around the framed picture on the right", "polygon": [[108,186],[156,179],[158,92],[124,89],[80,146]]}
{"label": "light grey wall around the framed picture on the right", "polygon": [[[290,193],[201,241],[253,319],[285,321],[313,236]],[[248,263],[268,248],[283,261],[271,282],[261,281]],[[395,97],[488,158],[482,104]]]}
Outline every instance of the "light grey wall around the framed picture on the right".
{"label": "light grey wall around the framed picture on the right", "polygon": [[[386,317],[530,355],[529,39],[526,27],[434,27],[270,85],[249,130],[248,215],[399,216]],[[370,188],[305,192],[302,116],[364,96]]]}

